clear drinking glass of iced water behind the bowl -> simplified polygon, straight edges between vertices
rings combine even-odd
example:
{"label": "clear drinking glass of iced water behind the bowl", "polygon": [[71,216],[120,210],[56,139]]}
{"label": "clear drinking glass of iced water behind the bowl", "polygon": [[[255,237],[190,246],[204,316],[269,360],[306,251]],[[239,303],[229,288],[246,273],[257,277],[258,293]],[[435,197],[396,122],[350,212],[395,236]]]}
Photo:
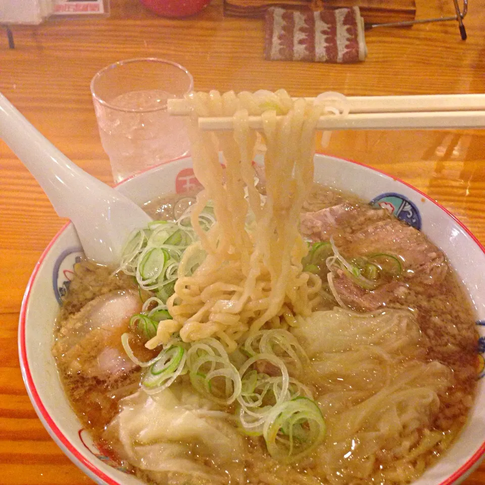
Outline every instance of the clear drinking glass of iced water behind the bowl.
{"label": "clear drinking glass of iced water behind the bowl", "polygon": [[92,100],[115,182],[188,153],[185,121],[169,116],[167,100],[192,89],[191,74],[164,59],[129,59],[96,73]]}

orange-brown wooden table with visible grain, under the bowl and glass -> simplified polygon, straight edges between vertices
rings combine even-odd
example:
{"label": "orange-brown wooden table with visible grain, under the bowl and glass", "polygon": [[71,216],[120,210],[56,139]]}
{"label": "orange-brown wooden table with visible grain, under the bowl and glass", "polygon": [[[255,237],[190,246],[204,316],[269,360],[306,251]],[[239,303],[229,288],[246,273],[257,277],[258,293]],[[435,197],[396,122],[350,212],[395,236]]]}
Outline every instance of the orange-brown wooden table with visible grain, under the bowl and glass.
{"label": "orange-brown wooden table with visible grain, under the bowl and glass", "polygon": [[[419,0],[420,18],[452,14],[451,0]],[[52,20],[0,39],[0,90],[69,158],[111,183],[92,109],[89,81],[120,59],[177,61],[196,89],[285,87],[293,95],[485,92],[485,0],[471,0],[468,40],[456,23],[367,33],[369,56],[356,65],[263,59],[263,23],[222,17],[220,0],[199,16],[165,20],[137,0],[112,0],[110,18]],[[454,212],[485,243],[485,131],[334,133],[328,153],[354,158],[412,183]],[[0,482],[92,483],[37,419],[17,357],[25,285],[41,251],[64,224],[44,193],[0,141]],[[485,466],[466,485],[485,484]]]}

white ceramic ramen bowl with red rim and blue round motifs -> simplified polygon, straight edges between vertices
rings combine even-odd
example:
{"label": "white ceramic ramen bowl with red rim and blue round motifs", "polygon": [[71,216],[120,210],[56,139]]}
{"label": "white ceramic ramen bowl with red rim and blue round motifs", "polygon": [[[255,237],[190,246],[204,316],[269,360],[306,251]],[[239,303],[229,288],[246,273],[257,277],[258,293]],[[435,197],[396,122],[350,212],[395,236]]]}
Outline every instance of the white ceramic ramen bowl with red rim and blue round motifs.
{"label": "white ceramic ramen bowl with red rim and blue round motifs", "polygon": [[[398,217],[423,230],[445,251],[476,308],[478,347],[485,353],[485,249],[466,227],[424,193],[355,162],[317,155],[315,180],[352,190],[364,200],[394,211]],[[196,182],[191,161],[184,158],[140,173],[117,188],[141,204],[162,192],[187,190]],[[47,246],[34,268],[20,314],[22,375],[39,418],[76,465],[100,484],[140,484],[137,478],[116,468],[92,443],[89,433],[81,428],[62,390],[51,355],[54,320],[69,284],[69,272],[80,254],[76,232],[67,224]],[[479,378],[485,374],[482,354],[479,355]],[[485,452],[484,404],[485,386],[479,381],[475,406],[459,440],[414,485],[459,483],[478,465]]]}

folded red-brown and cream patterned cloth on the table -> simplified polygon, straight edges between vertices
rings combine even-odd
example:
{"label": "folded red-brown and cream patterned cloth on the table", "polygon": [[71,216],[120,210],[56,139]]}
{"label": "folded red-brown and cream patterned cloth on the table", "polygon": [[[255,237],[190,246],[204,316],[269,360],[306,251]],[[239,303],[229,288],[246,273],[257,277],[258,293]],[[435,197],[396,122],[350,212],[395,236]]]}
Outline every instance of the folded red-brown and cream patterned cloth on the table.
{"label": "folded red-brown and cream patterned cloth on the table", "polygon": [[265,57],[271,61],[364,61],[367,46],[359,7],[266,12]]}

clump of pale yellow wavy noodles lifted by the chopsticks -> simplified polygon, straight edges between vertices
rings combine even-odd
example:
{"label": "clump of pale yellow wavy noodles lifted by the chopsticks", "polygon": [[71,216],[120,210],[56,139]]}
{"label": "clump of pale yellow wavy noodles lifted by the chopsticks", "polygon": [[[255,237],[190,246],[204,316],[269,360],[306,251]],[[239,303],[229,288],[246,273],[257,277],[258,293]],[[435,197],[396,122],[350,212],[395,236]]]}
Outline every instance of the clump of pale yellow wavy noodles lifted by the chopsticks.
{"label": "clump of pale yellow wavy noodles lifted by the chopsticks", "polygon": [[[342,98],[329,93],[316,103],[293,101],[284,90],[189,96],[193,170],[204,186],[191,212],[200,242],[182,257],[175,293],[167,301],[172,320],[160,322],[149,347],[167,343],[179,331],[184,342],[215,336],[231,352],[248,332],[265,324],[292,326],[299,315],[311,313],[321,280],[303,271],[308,249],[299,233],[300,212],[313,183],[316,123],[324,113],[345,111]],[[250,115],[263,118],[264,202],[254,183],[257,136],[249,128]],[[198,116],[233,116],[234,131],[203,132]],[[217,222],[204,232],[198,216],[209,200]],[[250,211],[255,219],[251,231]],[[207,256],[190,275],[188,260],[202,250]]]}

